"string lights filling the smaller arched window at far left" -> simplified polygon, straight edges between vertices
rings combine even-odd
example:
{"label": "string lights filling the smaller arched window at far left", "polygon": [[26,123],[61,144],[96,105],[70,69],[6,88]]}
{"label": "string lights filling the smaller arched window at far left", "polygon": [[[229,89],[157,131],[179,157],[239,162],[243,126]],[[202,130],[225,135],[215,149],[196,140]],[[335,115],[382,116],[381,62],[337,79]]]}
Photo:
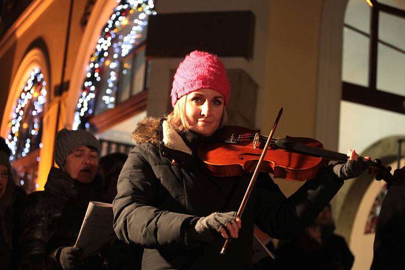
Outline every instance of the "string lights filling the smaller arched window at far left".
{"label": "string lights filling the smaller arched window at far left", "polygon": [[[10,129],[6,143],[12,152],[11,161],[28,155],[37,147],[36,143],[33,143],[41,139],[38,134],[41,133],[41,113],[47,102],[46,85],[44,74],[39,68],[29,72],[29,78],[22,87],[21,95],[13,108],[12,119],[8,123]],[[28,131],[25,131],[27,129]],[[38,147],[42,147],[42,143],[39,143]]]}

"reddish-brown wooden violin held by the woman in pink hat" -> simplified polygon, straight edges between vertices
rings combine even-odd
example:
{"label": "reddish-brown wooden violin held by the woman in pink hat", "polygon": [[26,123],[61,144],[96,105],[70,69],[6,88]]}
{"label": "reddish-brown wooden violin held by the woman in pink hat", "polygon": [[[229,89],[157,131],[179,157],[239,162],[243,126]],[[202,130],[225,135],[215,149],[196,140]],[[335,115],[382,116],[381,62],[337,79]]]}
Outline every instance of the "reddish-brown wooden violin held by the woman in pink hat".
{"label": "reddish-brown wooden violin held by the woman in pink hat", "polygon": [[[245,175],[255,170],[267,139],[260,130],[225,126],[209,141],[199,145],[198,157],[214,176]],[[346,162],[347,159],[346,154],[323,149],[322,144],[314,139],[287,136],[271,139],[260,171],[273,173],[276,178],[306,181],[314,178],[330,161]],[[402,183],[400,180],[405,179],[404,174],[398,172],[400,177],[394,178],[390,170],[379,160],[369,167],[369,173],[375,174],[378,180],[384,179],[394,185],[398,181]]]}

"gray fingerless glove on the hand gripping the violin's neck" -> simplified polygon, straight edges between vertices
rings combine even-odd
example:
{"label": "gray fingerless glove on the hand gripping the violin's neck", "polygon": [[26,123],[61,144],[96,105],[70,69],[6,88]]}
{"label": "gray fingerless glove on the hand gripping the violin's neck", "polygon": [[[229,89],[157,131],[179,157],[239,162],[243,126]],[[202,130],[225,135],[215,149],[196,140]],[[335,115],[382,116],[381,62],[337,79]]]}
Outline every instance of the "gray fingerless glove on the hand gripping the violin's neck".
{"label": "gray fingerless glove on the hand gripping the violin's neck", "polygon": [[338,178],[346,180],[360,176],[369,168],[371,163],[370,160],[363,161],[362,157],[358,157],[357,160],[347,160],[346,163],[336,163],[330,167]]}

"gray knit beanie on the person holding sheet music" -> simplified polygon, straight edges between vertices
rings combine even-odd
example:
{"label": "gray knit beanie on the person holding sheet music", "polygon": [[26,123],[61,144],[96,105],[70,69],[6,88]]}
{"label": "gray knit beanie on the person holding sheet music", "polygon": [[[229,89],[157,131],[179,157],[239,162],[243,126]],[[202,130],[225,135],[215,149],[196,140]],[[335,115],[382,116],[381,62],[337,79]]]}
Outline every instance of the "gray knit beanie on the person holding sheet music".
{"label": "gray knit beanie on the person holding sheet music", "polygon": [[100,154],[100,143],[92,133],[83,130],[69,130],[63,128],[56,134],[55,162],[59,168],[63,168],[66,157],[79,146],[90,146]]}

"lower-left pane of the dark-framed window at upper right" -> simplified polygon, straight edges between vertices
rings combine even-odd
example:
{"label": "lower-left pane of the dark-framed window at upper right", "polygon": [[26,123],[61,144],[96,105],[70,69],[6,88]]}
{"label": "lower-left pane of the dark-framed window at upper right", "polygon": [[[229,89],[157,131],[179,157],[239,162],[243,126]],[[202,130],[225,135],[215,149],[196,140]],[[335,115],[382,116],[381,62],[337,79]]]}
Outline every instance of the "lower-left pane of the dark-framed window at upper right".
{"label": "lower-left pane of the dark-framed window at upper right", "polygon": [[343,33],[342,80],[358,85],[369,85],[369,37],[347,27]]}

